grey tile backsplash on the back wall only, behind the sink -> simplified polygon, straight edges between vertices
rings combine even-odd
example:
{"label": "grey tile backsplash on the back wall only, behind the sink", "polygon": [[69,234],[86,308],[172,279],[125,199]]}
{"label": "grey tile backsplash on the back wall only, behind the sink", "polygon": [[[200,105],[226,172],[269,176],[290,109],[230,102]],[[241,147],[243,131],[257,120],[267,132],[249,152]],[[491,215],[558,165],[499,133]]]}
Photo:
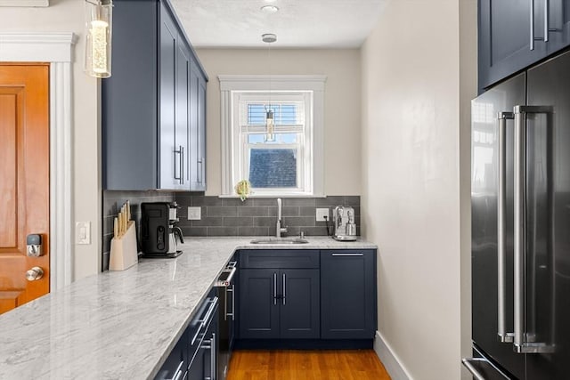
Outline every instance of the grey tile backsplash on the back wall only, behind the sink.
{"label": "grey tile backsplash on the back wall only, behind the sink", "polygon": [[[181,207],[177,224],[185,236],[274,236],[277,222],[277,198],[218,198],[194,193],[175,193]],[[288,228],[287,236],[327,235],[325,222],[316,222],[316,208],[338,205],[354,207],[354,222],[360,235],[360,196],[330,196],[326,198],[281,198],[282,225]],[[188,206],[199,206],[201,219],[188,220]],[[330,223],[332,228],[332,223]]]}

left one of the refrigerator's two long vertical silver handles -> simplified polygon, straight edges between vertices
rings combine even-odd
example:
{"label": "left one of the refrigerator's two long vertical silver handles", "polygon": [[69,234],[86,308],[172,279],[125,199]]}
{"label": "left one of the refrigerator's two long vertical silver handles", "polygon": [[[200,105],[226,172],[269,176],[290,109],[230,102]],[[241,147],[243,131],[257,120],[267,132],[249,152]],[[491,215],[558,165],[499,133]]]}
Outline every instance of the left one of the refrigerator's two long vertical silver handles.
{"label": "left one of the refrigerator's two long vertical silver handles", "polygon": [[[512,112],[499,112],[499,194],[497,197],[497,336],[503,343],[512,343],[513,333],[506,332],[505,308],[507,297],[507,120],[512,120]],[[467,365],[466,365],[467,367]]]}

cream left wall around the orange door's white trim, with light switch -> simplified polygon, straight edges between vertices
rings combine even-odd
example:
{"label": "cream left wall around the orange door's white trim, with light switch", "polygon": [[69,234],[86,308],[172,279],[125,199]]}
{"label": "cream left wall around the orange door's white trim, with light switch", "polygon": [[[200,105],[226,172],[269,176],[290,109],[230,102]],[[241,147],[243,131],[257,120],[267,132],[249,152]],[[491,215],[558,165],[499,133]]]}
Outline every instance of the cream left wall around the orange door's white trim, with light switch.
{"label": "cream left wall around the orange door's white trim, with light switch", "polygon": [[[78,36],[73,57],[73,175],[77,221],[92,222],[92,244],[73,246],[74,278],[94,274],[101,267],[101,181],[98,107],[99,80],[83,72],[84,36],[83,0],[52,0],[47,8],[0,8],[0,30],[62,31]],[[0,61],[2,51],[0,50]],[[52,255],[57,255],[53,252]]]}

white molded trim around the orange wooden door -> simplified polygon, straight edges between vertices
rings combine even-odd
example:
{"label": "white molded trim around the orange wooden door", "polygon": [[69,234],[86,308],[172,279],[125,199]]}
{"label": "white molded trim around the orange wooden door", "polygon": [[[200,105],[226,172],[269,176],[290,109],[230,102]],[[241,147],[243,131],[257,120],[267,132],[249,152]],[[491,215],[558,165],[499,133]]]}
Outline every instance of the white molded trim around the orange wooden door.
{"label": "white molded trim around the orange wooden door", "polygon": [[73,280],[73,33],[0,33],[0,61],[50,63],[50,288]]}

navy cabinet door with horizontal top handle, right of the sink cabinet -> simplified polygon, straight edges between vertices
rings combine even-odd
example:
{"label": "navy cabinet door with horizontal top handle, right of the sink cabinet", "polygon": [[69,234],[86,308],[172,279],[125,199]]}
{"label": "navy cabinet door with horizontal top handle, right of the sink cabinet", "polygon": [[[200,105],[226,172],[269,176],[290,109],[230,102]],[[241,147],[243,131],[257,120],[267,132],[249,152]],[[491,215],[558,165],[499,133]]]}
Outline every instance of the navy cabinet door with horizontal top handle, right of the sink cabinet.
{"label": "navy cabinet door with horizontal top handle, right of the sink cabinet", "polygon": [[374,338],[376,251],[321,252],[322,338]]}

